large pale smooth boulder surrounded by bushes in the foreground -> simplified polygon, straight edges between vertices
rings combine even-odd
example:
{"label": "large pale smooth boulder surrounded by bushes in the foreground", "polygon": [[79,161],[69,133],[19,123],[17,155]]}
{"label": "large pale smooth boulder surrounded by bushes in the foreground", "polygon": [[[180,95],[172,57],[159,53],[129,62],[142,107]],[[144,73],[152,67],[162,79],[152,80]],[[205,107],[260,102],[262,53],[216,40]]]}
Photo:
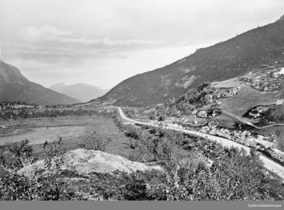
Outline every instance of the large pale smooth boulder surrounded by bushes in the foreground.
{"label": "large pale smooth boulder surrounded by bushes in the foreground", "polygon": [[[55,164],[54,157],[51,161],[52,165]],[[146,171],[151,169],[156,169],[162,171],[161,166],[147,166],[143,163],[130,161],[122,156],[109,154],[99,150],[86,150],[86,149],[76,149],[65,153],[62,156],[64,164],[62,169],[68,169],[70,166],[74,167],[74,170],[83,176],[89,176],[91,172],[96,173],[111,173],[117,169],[122,172],[131,173],[133,171]],[[32,165],[30,165],[32,170],[44,169],[44,160],[40,160]],[[22,168],[18,171],[19,174],[26,173],[26,168]]]}

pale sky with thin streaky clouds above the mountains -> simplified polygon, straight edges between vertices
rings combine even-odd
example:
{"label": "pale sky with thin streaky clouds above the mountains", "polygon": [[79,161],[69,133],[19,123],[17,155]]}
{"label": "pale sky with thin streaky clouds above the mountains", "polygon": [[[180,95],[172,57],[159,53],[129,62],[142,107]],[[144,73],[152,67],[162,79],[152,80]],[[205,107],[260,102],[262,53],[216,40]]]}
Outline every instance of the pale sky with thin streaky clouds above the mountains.
{"label": "pale sky with thin streaky clouds above the mountains", "polygon": [[112,88],[284,14],[283,0],[0,2],[1,60],[47,88]]}

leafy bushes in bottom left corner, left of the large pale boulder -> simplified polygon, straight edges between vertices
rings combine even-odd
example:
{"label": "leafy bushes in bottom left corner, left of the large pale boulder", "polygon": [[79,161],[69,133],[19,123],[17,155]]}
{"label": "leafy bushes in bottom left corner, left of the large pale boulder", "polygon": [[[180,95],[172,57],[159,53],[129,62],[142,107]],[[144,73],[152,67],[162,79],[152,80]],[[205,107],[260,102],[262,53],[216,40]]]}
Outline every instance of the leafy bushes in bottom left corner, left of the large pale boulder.
{"label": "leafy bushes in bottom left corner, left of the large pale boulder", "polygon": [[[82,200],[80,196],[64,182],[65,176],[76,175],[71,169],[62,170],[64,150],[60,148],[57,142],[45,148],[48,154],[45,159],[47,175],[42,171],[32,171],[28,167],[34,160],[34,152],[28,145],[28,140],[24,140],[20,145],[13,145],[9,150],[14,154],[12,164],[10,162],[5,168],[6,174],[0,178],[0,198],[1,200]],[[25,158],[22,158],[22,157]],[[51,164],[52,158],[55,158],[55,164]],[[13,165],[14,162],[20,163]],[[26,173],[18,174],[17,170],[25,167]],[[66,172],[68,172],[66,174]]]}

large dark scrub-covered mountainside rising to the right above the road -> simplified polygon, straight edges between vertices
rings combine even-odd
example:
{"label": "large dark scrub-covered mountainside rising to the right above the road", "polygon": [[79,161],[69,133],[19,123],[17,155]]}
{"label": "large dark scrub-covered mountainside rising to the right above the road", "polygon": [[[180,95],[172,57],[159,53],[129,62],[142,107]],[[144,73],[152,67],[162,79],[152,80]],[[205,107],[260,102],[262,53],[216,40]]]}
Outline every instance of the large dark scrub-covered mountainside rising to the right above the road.
{"label": "large dark scrub-covered mountainside rising to the right above the road", "polygon": [[133,107],[164,103],[202,82],[237,77],[261,65],[284,60],[284,21],[257,27],[165,67],[130,77],[92,101],[117,99]]}

